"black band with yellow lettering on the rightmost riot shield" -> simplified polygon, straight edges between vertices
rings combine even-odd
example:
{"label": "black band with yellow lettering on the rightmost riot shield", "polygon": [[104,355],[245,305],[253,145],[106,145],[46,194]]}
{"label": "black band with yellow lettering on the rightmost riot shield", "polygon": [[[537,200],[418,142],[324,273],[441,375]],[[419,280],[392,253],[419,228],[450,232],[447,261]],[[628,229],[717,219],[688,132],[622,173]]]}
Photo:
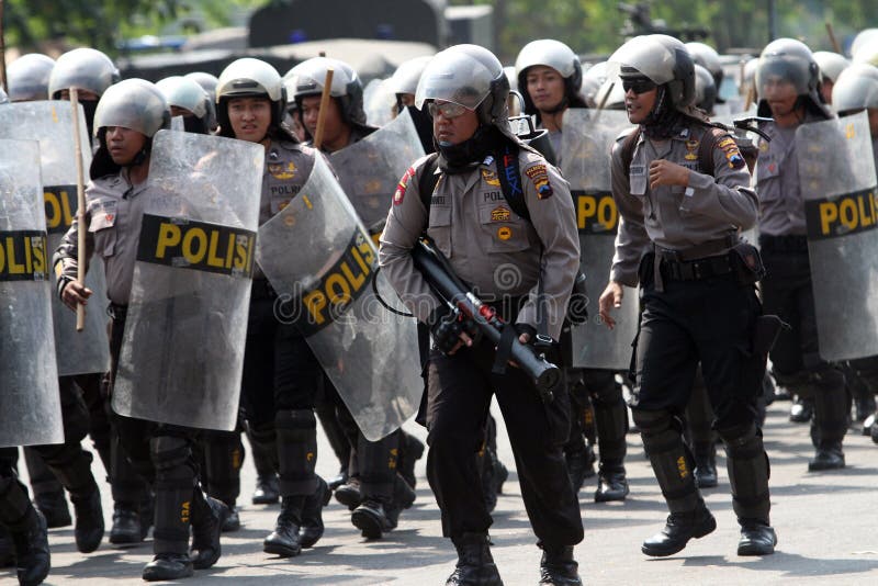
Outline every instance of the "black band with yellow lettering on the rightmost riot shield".
{"label": "black band with yellow lettering on the rightmost riot shield", "polygon": [[808,238],[822,240],[875,229],[875,188],[804,202]]}

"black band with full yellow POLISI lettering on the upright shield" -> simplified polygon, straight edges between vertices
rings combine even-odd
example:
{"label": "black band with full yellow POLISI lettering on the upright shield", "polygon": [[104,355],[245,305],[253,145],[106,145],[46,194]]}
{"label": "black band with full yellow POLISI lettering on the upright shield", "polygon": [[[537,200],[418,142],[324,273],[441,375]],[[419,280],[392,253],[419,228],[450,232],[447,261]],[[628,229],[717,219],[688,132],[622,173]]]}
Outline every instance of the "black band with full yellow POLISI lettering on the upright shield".
{"label": "black band with full yellow POLISI lettering on the upright shield", "polygon": [[144,214],[137,260],[249,279],[255,252],[255,232]]}

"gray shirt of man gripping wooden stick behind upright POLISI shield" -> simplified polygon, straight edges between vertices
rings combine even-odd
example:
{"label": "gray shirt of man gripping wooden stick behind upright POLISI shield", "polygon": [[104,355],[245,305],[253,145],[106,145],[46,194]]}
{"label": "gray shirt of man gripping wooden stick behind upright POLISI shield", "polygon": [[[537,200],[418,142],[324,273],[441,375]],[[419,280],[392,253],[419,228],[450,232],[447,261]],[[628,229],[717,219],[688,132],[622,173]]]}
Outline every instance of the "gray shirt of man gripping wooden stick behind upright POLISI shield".
{"label": "gray shirt of man gripping wooden stick behind upright POLISI shield", "polygon": [[[116,305],[127,305],[131,297],[140,221],[148,196],[146,182],[132,185],[127,169],[95,179],[86,188],[86,258],[98,253],[103,259],[106,296]],[[77,238],[78,222],[74,222],[55,252],[58,277],[76,280]]]}

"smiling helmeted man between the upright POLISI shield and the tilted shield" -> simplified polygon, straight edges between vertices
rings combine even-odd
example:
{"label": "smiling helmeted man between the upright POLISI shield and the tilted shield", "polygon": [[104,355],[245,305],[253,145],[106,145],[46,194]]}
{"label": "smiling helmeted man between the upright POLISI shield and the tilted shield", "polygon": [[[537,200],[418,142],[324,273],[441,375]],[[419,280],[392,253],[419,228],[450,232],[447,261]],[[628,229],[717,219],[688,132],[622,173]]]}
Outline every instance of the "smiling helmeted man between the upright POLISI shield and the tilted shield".
{"label": "smiling helmeted man between the upright POLISI shield and the tilted shield", "polygon": [[[238,59],[219,75],[219,136],[266,147],[260,225],[299,193],[317,156],[283,125],[285,103],[281,77],[264,61]],[[274,450],[272,457],[280,472],[281,512],[263,550],[289,557],[313,546],[323,536],[322,509],[329,495],[326,482],[314,472],[314,404],[323,385],[323,371],[295,326],[278,319],[277,298],[261,269],[257,269],[250,295],[241,403],[250,433]]]}

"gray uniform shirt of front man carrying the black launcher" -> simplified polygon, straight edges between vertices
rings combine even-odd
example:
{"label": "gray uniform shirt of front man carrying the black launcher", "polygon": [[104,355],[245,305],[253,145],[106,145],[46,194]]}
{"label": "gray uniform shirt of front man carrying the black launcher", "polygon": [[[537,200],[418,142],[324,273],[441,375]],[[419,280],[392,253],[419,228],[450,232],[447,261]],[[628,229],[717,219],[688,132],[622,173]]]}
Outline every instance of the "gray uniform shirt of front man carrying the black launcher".
{"label": "gray uniform shirt of front man carrying the black launcher", "polygon": [[[399,182],[379,249],[381,268],[421,322],[439,305],[410,256],[428,226],[418,192],[425,161],[426,157],[415,162]],[[542,157],[521,149],[519,166],[530,222],[511,211],[497,177],[500,169],[488,157],[466,173],[437,169],[427,234],[483,300],[527,295],[517,322],[538,331],[538,283],[542,281],[545,331],[558,339],[579,268],[573,200],[567,182]]]}

